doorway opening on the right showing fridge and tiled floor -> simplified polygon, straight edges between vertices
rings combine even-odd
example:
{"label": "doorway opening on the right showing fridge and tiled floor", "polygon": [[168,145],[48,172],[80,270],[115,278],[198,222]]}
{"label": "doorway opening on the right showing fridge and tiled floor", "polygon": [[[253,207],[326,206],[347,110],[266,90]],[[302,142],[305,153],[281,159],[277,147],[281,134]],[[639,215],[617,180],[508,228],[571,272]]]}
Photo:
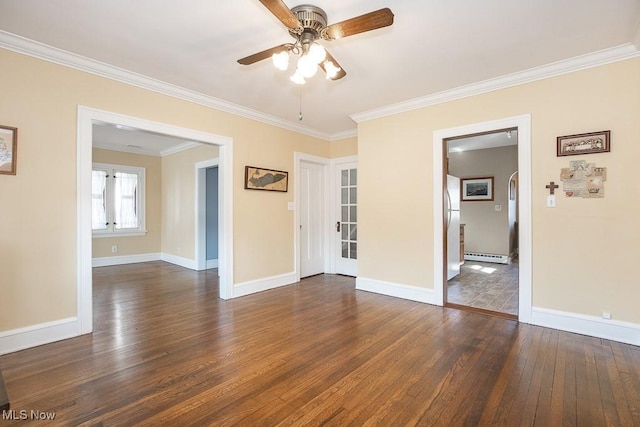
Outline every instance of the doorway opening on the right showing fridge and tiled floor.
{"label": "doorway opening on the right showing fridge and tiled floor", "polygon": [[443,141],[444,304],[517,319],[518,129]]}

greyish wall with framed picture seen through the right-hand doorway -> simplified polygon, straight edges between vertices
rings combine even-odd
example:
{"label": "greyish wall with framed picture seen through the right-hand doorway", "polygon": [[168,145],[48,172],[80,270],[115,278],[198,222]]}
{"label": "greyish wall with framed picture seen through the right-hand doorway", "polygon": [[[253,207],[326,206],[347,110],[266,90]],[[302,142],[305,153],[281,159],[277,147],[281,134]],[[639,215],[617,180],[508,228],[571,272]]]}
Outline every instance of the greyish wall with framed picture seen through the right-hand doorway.
{"label": "greyish wall with framed picture seen through the right-hand doorway", "polygon": [[[466,252],[509,255],[509,177],[517,170],[517,146],[449,154],[451,175],[493,177],[493,201],[460,203]],[[496,211],[496,205],[501,205],[502,210]]]}

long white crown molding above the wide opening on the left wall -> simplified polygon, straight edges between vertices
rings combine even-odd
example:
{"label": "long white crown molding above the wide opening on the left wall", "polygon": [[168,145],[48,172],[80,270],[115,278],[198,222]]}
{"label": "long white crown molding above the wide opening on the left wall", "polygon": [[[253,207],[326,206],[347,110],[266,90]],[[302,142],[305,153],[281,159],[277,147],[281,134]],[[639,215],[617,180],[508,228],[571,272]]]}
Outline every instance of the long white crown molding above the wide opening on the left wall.
{"label": "long white crown molding above the wide opening on the left wall", "polygon": [[32,56],[37,59],[52,62],[54,64],[63,65],[65,67],[74,68],[76,70],[95,74],[131,86],[161,93],[163,95],[193,102],[205,107],[214,108],[216,110],[235,114],[247,119],[256,120],[272,126],[288,129],[293,132],[312,136],[314,138],[325,141],[335,139],[333,135],[326,132],[320,132],[299,124],[283,120],[279,117],[261,113],[251,108],[243,107],[232,102],[228,102],[219,98],[202,94],[190,89],[157,80],[143,74],[125,70],[104,62],[89,59],[87,57],[77,55],[53,46],[46,45],[13,33],[0,30],[0,48],[10,50],[12,52],[21,53],[23,55]]}

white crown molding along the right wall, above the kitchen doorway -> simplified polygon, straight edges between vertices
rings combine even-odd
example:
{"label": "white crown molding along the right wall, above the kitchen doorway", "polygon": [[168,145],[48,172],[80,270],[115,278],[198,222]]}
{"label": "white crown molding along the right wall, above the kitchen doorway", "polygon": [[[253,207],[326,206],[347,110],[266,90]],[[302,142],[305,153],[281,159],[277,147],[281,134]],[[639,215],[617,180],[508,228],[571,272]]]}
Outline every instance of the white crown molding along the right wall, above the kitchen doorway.
{"label": "white crown molding along the right wall, above the kitchen doorway", "polygon": [[[637,38],[639,37],[636,37],[636,39]],[[640,57],[638,48],[636,48],[636,46],[631,43],[627,43],[590,54],[576,56],[563,61],[553,62],[551,64],[531,68],[529,70],[507,74],[495,79],[484,80],[478,83],[460,86],[451,90],[413,98],[408,101],[398,102],[386,107],[352,114],[350,117],[356,123],[361,123],[367,120],[373,120],[381,117],[391,116],[394,114],[404,113],[406,111],[416,110],[418,108],[429,107],[456,99],[481,95],[487,92],[493,92],[512,86],[531,83],[537,80],[543,80],[550,77],[560,76],[587,68],[598,67],[600,65],[624,61],[637,57]]]}

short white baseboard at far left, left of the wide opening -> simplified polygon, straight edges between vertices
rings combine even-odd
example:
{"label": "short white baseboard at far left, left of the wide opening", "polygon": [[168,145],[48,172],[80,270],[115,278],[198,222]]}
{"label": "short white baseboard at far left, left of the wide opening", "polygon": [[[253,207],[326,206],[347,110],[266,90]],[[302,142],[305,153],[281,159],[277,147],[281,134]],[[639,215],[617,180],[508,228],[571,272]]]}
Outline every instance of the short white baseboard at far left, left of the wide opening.
{"label": "short white baseboard at far left, left of the wide opening", "polygon": [[77,317],[0,332],[0,354],[66,340],[80,335]]}

